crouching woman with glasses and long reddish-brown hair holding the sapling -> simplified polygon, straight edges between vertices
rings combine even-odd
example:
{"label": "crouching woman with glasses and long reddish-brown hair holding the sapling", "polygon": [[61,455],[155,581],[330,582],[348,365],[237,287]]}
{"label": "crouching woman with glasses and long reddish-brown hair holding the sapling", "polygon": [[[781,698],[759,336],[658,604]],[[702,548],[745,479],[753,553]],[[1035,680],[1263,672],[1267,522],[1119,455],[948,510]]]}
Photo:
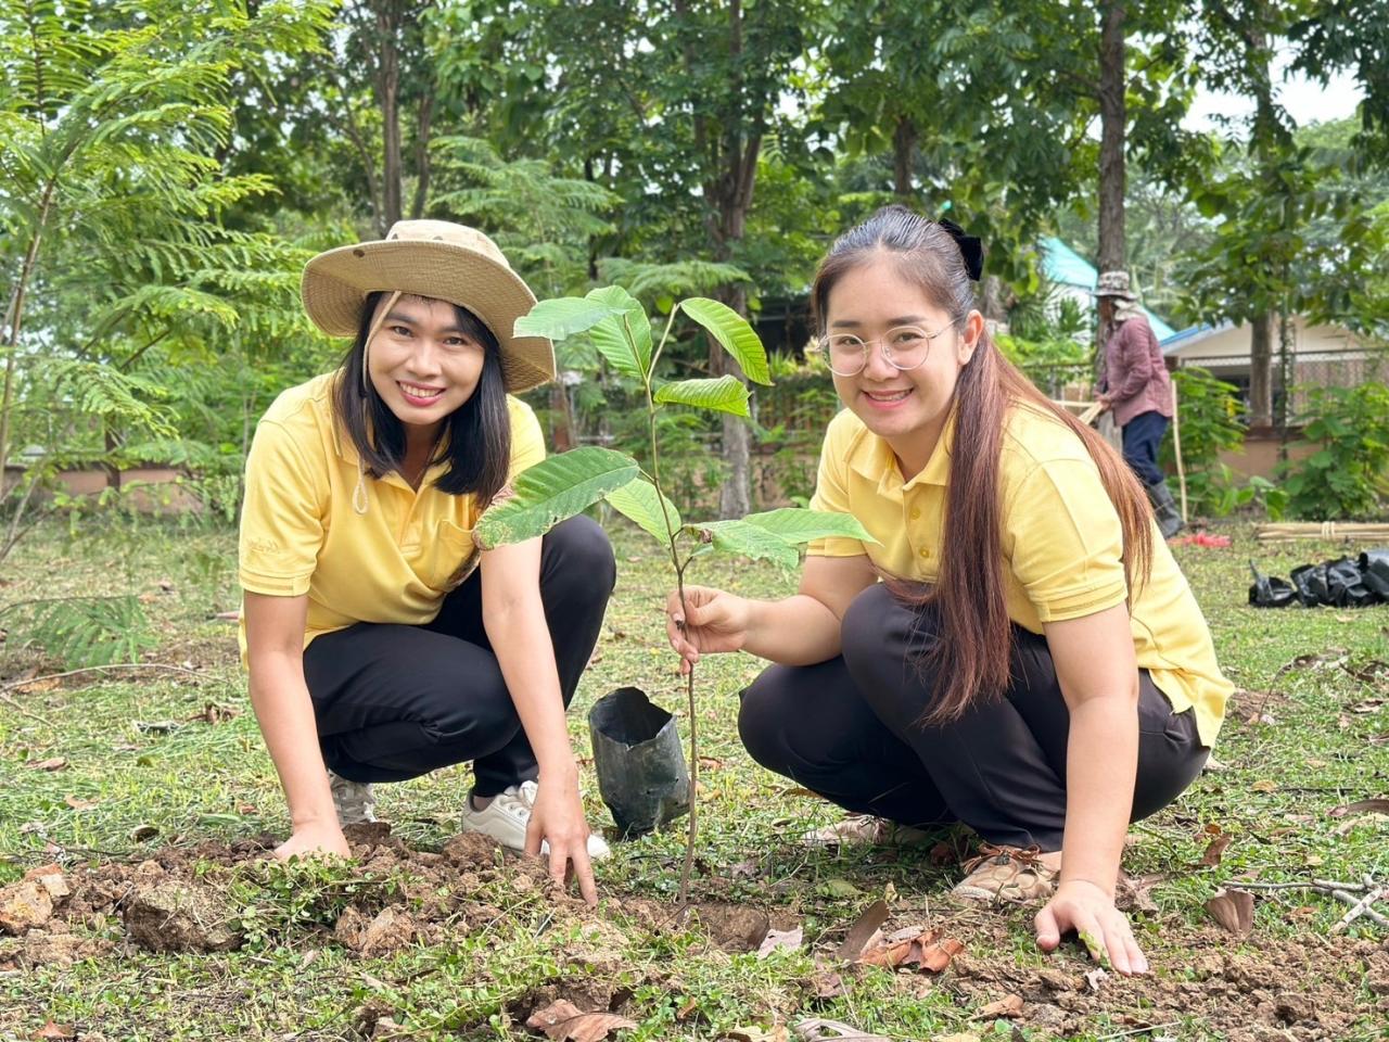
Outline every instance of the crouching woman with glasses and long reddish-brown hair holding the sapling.
{"label": "crouching woman with glasses and long reddish-brown hair holding the sapling", "polygon": [[[686,588],[682,668],[746,650],[756,760],[865,816],[813,836],[983,839],[954,895],[1043,903],[1122,973],[1129,821],[1201,771],[1232,685],[1124,460],[1003,358],[974,307],[979,240],[903,207],[842,236],[813,289],[847,408],[815,496],[874,543],[813,543],[795,596]],[[879,578],[883,582],[879,582]]]}

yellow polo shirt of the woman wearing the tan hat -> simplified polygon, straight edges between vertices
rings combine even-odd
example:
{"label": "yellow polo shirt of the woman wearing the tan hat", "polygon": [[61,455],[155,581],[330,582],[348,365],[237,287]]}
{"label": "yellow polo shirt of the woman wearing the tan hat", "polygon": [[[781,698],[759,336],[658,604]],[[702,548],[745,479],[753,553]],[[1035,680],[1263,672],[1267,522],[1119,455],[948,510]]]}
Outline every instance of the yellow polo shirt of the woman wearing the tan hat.
{"label": "yellow polo shirt of the woman wearing the tan hat", "polygon": [[[304,646],[356,622],[422,625],[476,564],[471,495],[435,488],[446,464],[415,490],[399,475],[367,477],[357,513],[357,449],[333,418],[332,381],[315,377],[283,392],[256,428],[242,506],[242,589],[308,595]],[[544,458],[535,413],[507,397],[514,478]],[[242,654],[246,627],[242,624]]]}

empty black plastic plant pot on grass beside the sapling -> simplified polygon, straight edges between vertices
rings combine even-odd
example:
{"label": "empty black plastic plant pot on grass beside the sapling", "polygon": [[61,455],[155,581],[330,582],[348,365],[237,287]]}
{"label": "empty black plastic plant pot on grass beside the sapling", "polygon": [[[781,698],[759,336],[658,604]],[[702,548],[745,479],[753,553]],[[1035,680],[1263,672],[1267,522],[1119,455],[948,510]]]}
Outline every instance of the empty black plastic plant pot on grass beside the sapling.
{"label": "empty black plastic plant pot on grass beside the sapling", "polygon": [[599,792],[624,838],[650,832],[690,809],[690,774],[675,717],[636,688],[618,688],[589,710]]}

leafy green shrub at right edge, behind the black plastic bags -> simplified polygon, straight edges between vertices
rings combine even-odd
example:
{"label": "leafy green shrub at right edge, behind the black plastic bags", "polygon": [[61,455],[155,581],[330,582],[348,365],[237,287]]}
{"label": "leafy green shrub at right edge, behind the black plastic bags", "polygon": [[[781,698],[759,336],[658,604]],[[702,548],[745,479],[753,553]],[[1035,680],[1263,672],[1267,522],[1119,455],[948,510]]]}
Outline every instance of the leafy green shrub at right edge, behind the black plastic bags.
{"label": "leafy green shrub at right edge, behind the black plastic bags", "polygon": [[1306,388],[1299,445],[1320,446],[1283,465],[1289,513],[1310,521],[1382,515],[1389,496],[1389,388]]}

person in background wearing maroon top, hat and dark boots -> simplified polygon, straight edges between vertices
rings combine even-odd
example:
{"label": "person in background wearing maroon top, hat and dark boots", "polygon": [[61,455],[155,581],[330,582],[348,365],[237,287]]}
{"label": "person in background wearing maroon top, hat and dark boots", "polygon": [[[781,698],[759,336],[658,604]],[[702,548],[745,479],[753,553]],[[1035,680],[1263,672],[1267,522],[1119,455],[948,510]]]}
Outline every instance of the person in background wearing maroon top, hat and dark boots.
{"label": "person in background wearing maroon top, hat and dark boots", "polygon": [[1124,460],[1147,489],[1163,538],[1171,539],[1186,525],[1157,465],[1157,450],[1172,420],[1172,381],[1163,349],[1138,295],[1129,289],[1128,272],[1106,271],[1095,296],[1100,328],[1113,329],[1104,345],[1104,386],[1099,400],[1114,413],[1114,422],[1124,432]]}

